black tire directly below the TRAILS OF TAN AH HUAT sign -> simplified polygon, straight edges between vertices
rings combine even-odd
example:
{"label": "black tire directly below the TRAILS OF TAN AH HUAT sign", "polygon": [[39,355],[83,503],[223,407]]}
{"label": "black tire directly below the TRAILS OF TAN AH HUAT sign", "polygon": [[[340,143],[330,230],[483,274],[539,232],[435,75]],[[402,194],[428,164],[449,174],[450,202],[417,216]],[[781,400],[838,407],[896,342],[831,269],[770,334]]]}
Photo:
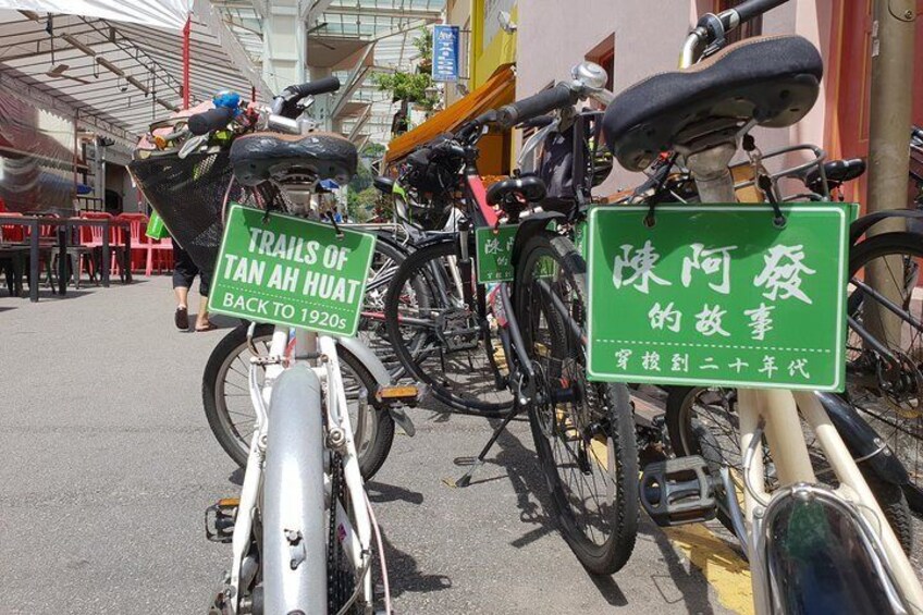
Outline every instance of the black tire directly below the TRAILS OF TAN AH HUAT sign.
{"label": "black tire directly below the TRAILS OF TAN AH HUAT sign", "polygon": [[[255,344],[262,344],[268,347],[272,331],[273,325],[271,324],[257,324],[254,332]],[[218,343],[209,356],[202,374],[202,406],[209,428],[211,428],[211,432],[224,452],[241,467],[245,467],[247,464],[251,432],[241,433],[231,418],[224,384],[225,373],[231,369],[235,359],[239,360],[243,367],[248,367],[247,361],[242,358],[244,353],[248,353],[247,328],[242,325],[232,329]],[[361,361],[342,346],[337,348],[337,354],[342,359],[341,367],[345,368],[344,371],[355,374],[368,392],[368,408],[373,411],[373,438],[370,440],[370,444],[364,446],[362,443],[357,443],[357,447],[361,446],[359,448],[359,467],[362,477],[368,480],[381,468],[391,452],[391,445],[394,441],[394,419],[376,399],[374,392],[378,390],[378,382],[362,366]],[[347,376],[347,373],[344,373],[344,377]],[[248,393],[244,398],[249,404]],[[253,413],[253,408],[249,411]]]}

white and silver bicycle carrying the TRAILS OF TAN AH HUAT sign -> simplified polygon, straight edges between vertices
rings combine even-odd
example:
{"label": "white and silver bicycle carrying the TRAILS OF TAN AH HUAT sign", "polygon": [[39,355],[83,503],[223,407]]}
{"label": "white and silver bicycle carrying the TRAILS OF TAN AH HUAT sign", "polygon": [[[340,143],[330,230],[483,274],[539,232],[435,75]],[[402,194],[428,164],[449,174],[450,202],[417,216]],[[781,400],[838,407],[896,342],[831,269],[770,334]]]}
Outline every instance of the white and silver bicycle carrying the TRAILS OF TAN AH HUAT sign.
{"label": "white and silver bicycle carrying the TRAILS OF TAN AH HUAT sign", "polygon": [[[230,161],[244,187],[241,200],[261,211],[236,205],[231,208],[225,243],[235,232],[243,232],[250,241],[262,233],[266,243],[260,244],[261,251],[248,254],[271,253],[308,265],[316,261],[308,255],[317,250],[328,259],[333,255],[345,262],[349,249],[359,250],[362,242],[371,247],[370,237],[357,234],[347,237],[352,248],[337,243],[346,237],[345,231],[337,230],[329,217],[327,224],[320,223],[327,212],[319,211],[313,197],[320,181],[343,182],[354,174],[355,147],[339,135],[313,132],[307,119],[286,118],[300,115],[298,101],[305,97],[337,87],[336,79],[293,86],[276,97],[270,109],[258,113],[250,110],[257,132],[233,140]],[[217,109],[193,116],[189,125],[193,132],[213,135],[226,131],[235,115],[234,109]],[[271,132],[261,132],[264,128]],[[200,146],[210,147],[209,140],[201,139]],[[280,217],[279,212],[290,217]],[[282,236],[282,224],[298,219],[316,221],[311,237],[317,246],[307,246],[304,237],[297,251],[294,241],[285,244],[291,246],[287,249],[278,241],[272,243]],[[330,231],[324,230],[328,226]],[[323,242],[328,242],[325,247]],[[370,250],[368,256],[370,259]],[[229,284],[229,270],[221,268],[239,259],[224,260],[219,261],[218,285],[222,279]],[[249,274],[255,275],[254,271],[249,269]],[[246,271],[243,275],[254,281]],[[290,270],[286,275],[296,273]],[[264,286],[258,283],[256,287],[260,292],[250,293],[245,303],[261,306]],[[308,286],[306,292],[316,292],[316,287]],[[246,286],[238,290],[247,296]],[[226,302],[229,295],[225,292],[225,298],[218,300]],[[229,308],[226,304],[222,307],[225,311]],[[315,311],[305,313],[306,325],[317,322],[310,329],[278,324],[268,352],[256,348],[257,324],[249,327],[246,343],[251,356],[245,391],[256,413],[256,426],[241,497],[221,500],[206,515],[208,537],[231,542],[233,551],[231,568],[210,605],[211,613],[368,612],[378,605],[373,589],[378,579],[383,581],[383,605],[390,612],[381,536],[364,488],[362,470],[373,470],[369,469],[371,462],[361,467],[358,444],[362,420],[353,425],[348,395],[352,392],[353,401],[360,406],[380,407],[377,429],[383,431],[381,417],[389,408],[415,403],[417,390],[391,386],[384,366],[355,339],[312,331],[346,327],[343,316]],[[349,373],[348,380],[344,371]],[[370,455],[367,459],[376,453]]]}

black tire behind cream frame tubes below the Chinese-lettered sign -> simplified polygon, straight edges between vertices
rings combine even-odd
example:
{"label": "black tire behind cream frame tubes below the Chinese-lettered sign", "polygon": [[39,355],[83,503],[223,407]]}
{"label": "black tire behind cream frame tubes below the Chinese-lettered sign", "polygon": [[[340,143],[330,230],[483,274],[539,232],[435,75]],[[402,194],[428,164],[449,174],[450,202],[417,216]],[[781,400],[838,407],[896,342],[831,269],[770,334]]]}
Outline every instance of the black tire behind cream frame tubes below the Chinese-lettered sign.
{"label": "black tire behind cream frame tubes below the Chinese-lettered sign", "polygon": [[[670,446],[678,457],[687,455],[702,455],[711,466],[711,470],[714,476],[717,476],[719,465],[728,465],[735,467],[738,471],[741,471],[740,465],[737,463],[739,462],[738,456],[740,454],[740,450],[735,448],[735,445],[739,446],[737,443],[740,442],[738,432],[725,432],[723,434],[723,440],[727,440],[729,442],[728,453],[730,453],[730,455],[725,456],[721,450],[715,450],[715,444],[718,444],[718,446],[721,446],[721,444],[718,439],[714,436],[714,433],[712,433],[713,444],[710,447],[710,451],[702,448],[700,436],[696,434],[697,428],[692,425],[692,420],[694,420],[693,416],[691,413],[687,411],[687,404],[690,399],[694,399],[699,392],[703,391],[706,391],[706,389],[700,386],[673,386],[669,389],[666,401],[666,428],[667,434],[669,435]],[[729,410],[728,414],[733,414],[733,410]],[[703,427],[700,427],[699,429],[702,428]],[[730,429],[734,429],[734,426],[730,426]],[[810,453],[811,462],[814,465],[814,471],[819,475],[819,477],[823,476],[825,470],[822,454],[823,453],[820,448],[812,450]],[[904,553],[910,554],[913,548],[913,529],[910,507],[900,485],[885,482],[866,466],[860,465],[859,470],[865,478],[865,482],[872,491],[872,494],[875,496],[875,500],[878,502],[878,506],[881,506],[885,518],[894,529]],[[819,480],[822,479],[819,478]],[[730,522],[730,518],[721,508],[718,508],[717,518],[724,527],[726,527],[730,532],[734,532],[734,526]]]}

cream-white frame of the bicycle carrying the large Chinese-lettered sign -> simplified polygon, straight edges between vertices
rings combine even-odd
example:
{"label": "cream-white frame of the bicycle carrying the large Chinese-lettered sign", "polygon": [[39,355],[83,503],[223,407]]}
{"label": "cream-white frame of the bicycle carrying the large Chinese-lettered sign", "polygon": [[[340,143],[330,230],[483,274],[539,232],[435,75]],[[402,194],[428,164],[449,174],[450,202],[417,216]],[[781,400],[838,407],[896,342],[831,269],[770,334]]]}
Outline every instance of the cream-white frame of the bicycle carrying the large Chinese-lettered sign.
{"label": "cream-white frame of the bicycle carrying the large Chinese-lettered sign", "polygon": [[[734,12],[731,9],[730,12]],[[738,23],[734,15],[730,23]],[[698,62],[705,50],[707,35],[703,28],[690,33],[682,48],[679,67],[687,69]],[[741,131],[739,137],[753,127],[755,122]],[[738,137],[738,149],[739,149]],[[682,153],[682,152],[681,152]],[[704,153],[707,157],[707,152]],[[707,161],[707,158],[705,158]],[[710,164],[714,171],[716,158],[711,162],[700,162],[700,168]],[[689,163],[687,157],[687,164]],[[717,162],[719,165],[721,163]],[[694,176],[694,173],[693,173]],[[737,200],[734,181],[727,174],[723,182],[697,181],[702,202],[735,202]],[[808,443],[802,430],[801,417],[816,435],[817,444],[824,452],[830,469],[840,485],[828,490],[817,484]],[[903,553],[897,537],[886,520],[878,502],[869,489],[864,477],[849,453],[830,419],[812,392],[792,392],[784,390],[739,390],[738,415],[740,420],[740,453],[743,459],[743,504],[744,532],[748,559],[751,564],[751,580],[756,613],[774,613],[774,588],[780,579],[771,578],[767,567],[767,546],[773,537],[766,522],[777,504],[786,497],[816,497],[830,506],[839,507],[859,521],[866,549],[877,556],[881,566],[877,569],[882,582],[889,590],[888,596],[895,612],[904,607],[911,613],[923,613],[923,588],[913,571],[910,561]],[[771,494],[766,489],[763,468],[762,440],[775,467],[778,487]],[[730,499],[735,495],[729,494]],[[730,503],[731,506],[736,502]]]}

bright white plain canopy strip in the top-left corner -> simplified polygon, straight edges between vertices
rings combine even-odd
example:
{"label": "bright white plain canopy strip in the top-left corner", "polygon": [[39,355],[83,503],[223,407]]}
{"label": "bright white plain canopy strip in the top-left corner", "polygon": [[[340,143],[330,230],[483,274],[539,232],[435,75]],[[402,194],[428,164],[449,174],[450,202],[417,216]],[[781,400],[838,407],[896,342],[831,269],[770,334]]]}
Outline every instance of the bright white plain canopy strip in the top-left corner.
{"label": "bright white plain canopy strip in the top-left corner", "polygon": [[0,0],[0,9],[83,15],[115,22],[182,29],[190,0]]}

